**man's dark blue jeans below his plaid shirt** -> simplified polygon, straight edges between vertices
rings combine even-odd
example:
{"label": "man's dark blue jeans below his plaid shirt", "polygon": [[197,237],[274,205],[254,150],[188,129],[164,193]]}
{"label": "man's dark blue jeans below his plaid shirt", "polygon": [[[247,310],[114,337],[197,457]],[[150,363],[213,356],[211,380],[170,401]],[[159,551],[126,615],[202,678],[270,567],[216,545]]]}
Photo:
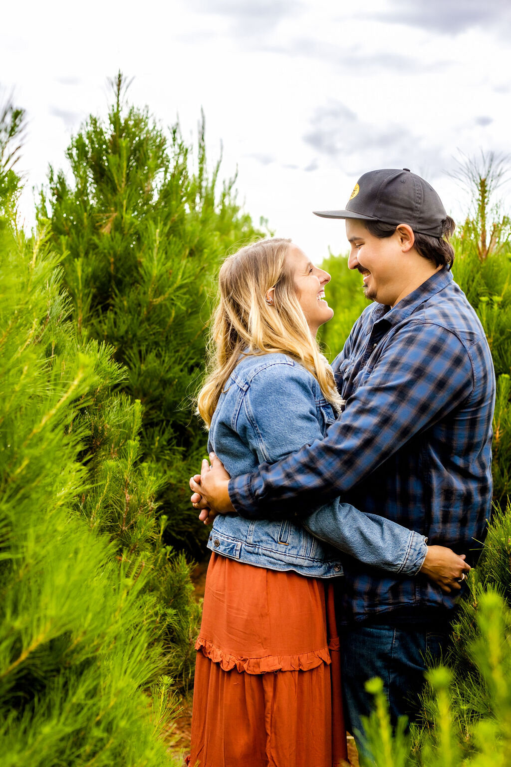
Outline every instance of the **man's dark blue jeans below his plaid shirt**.
{"label": "man's dark blue jeans below his plaid shirt", "polygon": [[381,677],[387,695],[391,722],[405,714],[413,721],[418,713],[418,694],[424,685],[426,655],[441,657],[442,646],[450,632],[450,621],[428,624],[351,624],[341,627],[342,686],[346,699],[346,723],[362,746],[358,732],[363,732],[361,716],[369,716],[373,697],[364,683]]}

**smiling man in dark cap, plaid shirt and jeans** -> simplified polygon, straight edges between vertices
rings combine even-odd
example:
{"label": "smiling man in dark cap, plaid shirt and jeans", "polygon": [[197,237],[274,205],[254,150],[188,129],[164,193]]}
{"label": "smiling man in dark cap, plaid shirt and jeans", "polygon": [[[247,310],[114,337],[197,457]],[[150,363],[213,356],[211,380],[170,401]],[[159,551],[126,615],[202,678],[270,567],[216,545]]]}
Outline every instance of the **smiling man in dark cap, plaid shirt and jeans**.
{"label": "smiling man in dark cap, plaid shirt and jeans", "polygon": [[[491,505],[495,379],[477,315],[450,267],[454,222],[424,179],[375,170],[344,210],[349,268],[375,301],[333,363],[346,409],[326,439],[230,481],[221,464],[191,479],[201,509],[300,518],[340,495],[474,559]],[[207,463],[207,462],[206,462]],[[198,478],[197,478],[198,479]],[[205,518],[208,512],[201,512]],[[352,732],[380,676],[392,719],[413,715],[424,655],[438,657],[456,600],[420,575],[393,577],[346,558],[339,619]]]}

